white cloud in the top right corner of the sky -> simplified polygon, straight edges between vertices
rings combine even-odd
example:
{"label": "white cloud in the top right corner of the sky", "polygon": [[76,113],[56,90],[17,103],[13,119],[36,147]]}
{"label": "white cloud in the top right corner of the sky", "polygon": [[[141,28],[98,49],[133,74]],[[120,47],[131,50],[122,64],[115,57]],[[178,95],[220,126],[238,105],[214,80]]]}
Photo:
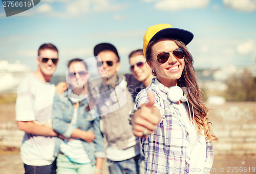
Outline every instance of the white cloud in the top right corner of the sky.
{"label": "white cloud in the top right corner of the sky", "polygon": [[223,4],[238,11],[251,12],[256,9],[255,0],[223,0]]}

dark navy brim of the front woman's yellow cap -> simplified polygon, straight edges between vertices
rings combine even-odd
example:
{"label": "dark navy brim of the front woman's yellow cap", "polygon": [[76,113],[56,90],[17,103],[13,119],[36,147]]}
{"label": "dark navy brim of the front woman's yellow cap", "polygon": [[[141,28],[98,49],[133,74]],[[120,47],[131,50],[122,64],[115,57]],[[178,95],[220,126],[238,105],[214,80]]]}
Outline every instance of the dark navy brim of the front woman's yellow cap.
{"label": "dark navy brim of the front woman's yellow cap", "polygon": [[185,45],[193,39],[194,35],[190,31],[179,28],[165,28],[157,32],[148,43],[160,37],[174,38],[182,41]]}

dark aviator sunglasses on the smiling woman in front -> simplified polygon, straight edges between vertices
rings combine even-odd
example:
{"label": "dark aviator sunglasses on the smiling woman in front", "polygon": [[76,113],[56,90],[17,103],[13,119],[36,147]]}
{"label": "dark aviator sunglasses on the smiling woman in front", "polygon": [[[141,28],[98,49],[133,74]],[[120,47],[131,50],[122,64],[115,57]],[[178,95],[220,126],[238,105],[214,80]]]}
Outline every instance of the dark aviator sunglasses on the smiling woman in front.
{"label": "dark aviator sunglasses on the smiling woman in front", "polygon": [[159,63],[165,63],[169,57],[170,57],[170,53],[172,53],[174,55],[174,57],[176,57],[177,59],[182,59],[185,57],[185,53],[182,50],[182,48],[177,48],[174,51],[165,51],[165,52],[161,52],[157,54],[157,61]]}

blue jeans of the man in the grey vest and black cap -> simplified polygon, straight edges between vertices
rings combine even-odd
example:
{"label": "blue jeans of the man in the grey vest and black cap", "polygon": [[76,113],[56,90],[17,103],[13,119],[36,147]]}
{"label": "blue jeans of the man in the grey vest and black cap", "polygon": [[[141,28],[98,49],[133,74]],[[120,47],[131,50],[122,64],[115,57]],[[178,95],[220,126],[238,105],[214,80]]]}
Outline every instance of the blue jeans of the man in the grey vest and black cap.
{"label": "blue jeans of the man in the grey vest and black cap", "polygon": [[111,161],[108,159],[108,166],[111,174],[139,174],[140,156],[123,161]]}

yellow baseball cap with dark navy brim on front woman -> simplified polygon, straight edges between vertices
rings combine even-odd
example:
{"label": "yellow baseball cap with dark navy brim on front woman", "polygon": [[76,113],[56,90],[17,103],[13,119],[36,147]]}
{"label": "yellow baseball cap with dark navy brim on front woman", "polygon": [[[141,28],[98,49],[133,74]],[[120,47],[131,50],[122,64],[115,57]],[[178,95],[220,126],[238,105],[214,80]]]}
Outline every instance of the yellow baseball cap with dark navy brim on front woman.
{"label": "yellow baseball cap with dark navy brim on front woman", "polygon": [[159,37],[170,37],[182,41],[185,45],[193,39],[194,35],[190,31],[173,28],[169,24],[157,24],[148,27],[143,38],[143,53],[146,54],[147,45]]}

